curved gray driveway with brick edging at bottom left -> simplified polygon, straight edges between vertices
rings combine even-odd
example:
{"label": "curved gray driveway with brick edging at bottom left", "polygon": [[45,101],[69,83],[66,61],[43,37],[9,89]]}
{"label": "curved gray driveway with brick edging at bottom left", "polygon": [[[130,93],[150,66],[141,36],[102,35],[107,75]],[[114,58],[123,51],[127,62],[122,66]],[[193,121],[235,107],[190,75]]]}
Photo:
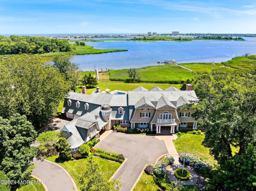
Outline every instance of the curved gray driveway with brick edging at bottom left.
{"label": "curved gray driveway with brick edging at bottom left", "polygon": [[58,165],[36,158],[33,159],[33,164],[36,168],[32,171],[32,175],[44,180],[49,191],[72,191],[75,187],[67,173]]}

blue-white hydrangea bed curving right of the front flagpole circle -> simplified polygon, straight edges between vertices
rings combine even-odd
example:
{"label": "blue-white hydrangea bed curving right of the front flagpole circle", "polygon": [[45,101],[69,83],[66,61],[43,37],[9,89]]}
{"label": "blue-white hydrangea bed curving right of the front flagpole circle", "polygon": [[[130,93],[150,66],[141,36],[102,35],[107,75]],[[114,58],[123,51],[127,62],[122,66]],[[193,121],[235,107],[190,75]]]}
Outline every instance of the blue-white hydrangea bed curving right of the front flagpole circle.
{"label": "blue-white hydrangea bed curving right of the front flagpole circle", "polygon": [[[184,161],[184,156],[185,154],[180,155],[181,161]],[[210,170],[209,167],[203,161],[190,154],[186,154],[185,164],[192,166],[194,169],[196,169],[198,172],[202,174],[205,174]]]}

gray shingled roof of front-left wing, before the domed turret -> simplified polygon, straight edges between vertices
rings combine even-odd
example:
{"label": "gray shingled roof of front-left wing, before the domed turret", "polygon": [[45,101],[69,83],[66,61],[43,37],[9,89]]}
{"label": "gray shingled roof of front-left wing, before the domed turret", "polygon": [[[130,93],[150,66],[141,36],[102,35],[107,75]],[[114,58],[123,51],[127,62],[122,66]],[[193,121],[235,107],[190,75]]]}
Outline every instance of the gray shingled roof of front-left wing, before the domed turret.
{"label": "gray shingled roof of front-left wing, before the domed turret", "polygon": [[[71,132],[71,136],[67,139],[70,149],[77,148],[87,141],[87,129],[93,124],[98,123],[98,126],[102,128],[108,122],[102,118],[101,107],[97,107],[90,113],[86,113],[80,118],[73,119],[64,127]],[[99,116],[99,117],[98,117]]]}

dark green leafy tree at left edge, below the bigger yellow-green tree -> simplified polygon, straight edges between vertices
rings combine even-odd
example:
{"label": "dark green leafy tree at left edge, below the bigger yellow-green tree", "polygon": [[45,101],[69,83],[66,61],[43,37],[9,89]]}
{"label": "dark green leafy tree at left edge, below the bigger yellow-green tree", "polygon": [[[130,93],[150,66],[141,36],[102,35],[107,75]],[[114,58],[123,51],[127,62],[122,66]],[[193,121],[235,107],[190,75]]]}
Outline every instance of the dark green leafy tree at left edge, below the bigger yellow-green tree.
{"label": "dark green leafy tree at left edge, below the bigger yellow-green tree", "polygon": [[13,114],[9,119],[0,117],[0,170],[11,180],[30,178],[31,164],[37,149],[30,147],[37,132],[25,115]]}

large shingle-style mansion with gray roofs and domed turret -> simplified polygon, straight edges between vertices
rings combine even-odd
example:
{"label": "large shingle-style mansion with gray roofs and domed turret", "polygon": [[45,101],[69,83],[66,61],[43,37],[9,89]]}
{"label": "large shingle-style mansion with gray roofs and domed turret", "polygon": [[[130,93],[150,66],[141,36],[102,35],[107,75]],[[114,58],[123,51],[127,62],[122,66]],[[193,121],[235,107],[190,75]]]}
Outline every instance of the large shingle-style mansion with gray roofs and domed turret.
{"label": "large shingle-style mansion with gray roofs and domed turret", "polygon": [[183,104],[197,100],[190,84],[184,91],[175,87],[165,90],[138,87],[128,92],[96,89],[88,95],[83,86],[82,93],[69,92],[65,97],[62,111],[73,120],[64,124],[61,135],[71,145],[72,152],[77,152],[80,145],[95,135],[99,136],[101,130],[110,130],[115,124],[131,128],[150,127],[156,133],[161,133],[161,128],[168,133],[174,133],[175,128],[197,128],[191,117],[194,109],[183,110]]}

